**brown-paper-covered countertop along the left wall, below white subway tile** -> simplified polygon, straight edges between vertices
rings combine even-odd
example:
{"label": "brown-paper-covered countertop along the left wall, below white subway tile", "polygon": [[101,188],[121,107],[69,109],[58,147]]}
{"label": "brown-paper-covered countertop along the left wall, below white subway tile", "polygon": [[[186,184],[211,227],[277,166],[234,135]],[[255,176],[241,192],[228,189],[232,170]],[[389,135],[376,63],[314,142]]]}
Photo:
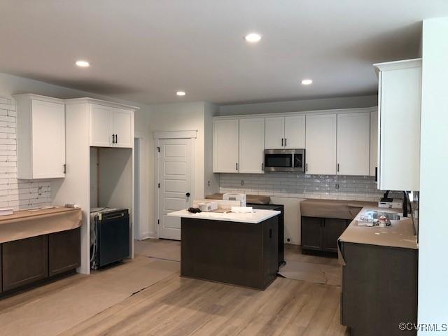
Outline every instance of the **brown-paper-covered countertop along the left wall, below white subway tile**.
{"label": "brown-paper-covered countertop along the left wall, below white subway tile", "polygon": [[12,215],[0,216],[0,243],[72,230],[82,224],[81,209],[54,207],[15,211]]}

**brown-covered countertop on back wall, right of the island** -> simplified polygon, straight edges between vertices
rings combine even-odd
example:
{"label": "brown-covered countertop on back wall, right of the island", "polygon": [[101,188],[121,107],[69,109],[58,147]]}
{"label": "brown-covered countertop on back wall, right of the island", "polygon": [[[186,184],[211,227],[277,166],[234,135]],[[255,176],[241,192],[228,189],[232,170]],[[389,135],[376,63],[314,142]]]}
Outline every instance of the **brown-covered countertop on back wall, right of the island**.
{"label": "brown-covered countertop on back wall, right of the island", "polygon": [[377,202],[314,200],[300,202],[300,215],[306,217],[353,219],[363,207],[378,207]]}

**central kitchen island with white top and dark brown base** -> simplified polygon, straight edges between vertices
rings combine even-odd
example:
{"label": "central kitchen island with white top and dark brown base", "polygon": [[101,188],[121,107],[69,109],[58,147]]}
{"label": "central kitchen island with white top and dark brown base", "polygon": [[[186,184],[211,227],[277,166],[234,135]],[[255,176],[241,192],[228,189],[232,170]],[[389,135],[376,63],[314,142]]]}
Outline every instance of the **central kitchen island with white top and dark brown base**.
{"label": "central kitchen island with white top and dark brown base", "polygon": [[276,278],[280,211],[174,211],[181,217],[181,276],[264,290]]}

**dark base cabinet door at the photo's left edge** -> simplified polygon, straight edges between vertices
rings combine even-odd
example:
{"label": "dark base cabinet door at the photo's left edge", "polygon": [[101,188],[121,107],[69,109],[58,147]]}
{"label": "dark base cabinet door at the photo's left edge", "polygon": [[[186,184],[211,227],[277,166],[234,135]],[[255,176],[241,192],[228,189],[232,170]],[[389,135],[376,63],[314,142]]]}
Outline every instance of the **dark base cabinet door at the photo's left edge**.
{"label": "dark base cabinet door at the photo's left edge", "polygon": [[48,276],[48,236],[31,237],[2,244],[3,291],[45,279]]}

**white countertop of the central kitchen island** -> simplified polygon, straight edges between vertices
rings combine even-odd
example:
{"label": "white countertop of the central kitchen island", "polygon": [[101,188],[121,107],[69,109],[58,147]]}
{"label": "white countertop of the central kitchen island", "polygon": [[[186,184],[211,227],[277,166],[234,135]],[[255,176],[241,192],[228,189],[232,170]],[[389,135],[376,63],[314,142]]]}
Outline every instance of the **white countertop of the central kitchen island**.
{"label": "white countertop of the central kitchen island", "polygon": [[258,224],[279,214],[280,211],[262,209],[254,209],[253,212],[248,214],[239,214],[234,212],[200,212],[193,214],[188,210],[179,210],[170,212],[167,216]]}

